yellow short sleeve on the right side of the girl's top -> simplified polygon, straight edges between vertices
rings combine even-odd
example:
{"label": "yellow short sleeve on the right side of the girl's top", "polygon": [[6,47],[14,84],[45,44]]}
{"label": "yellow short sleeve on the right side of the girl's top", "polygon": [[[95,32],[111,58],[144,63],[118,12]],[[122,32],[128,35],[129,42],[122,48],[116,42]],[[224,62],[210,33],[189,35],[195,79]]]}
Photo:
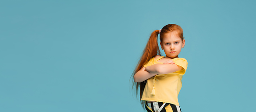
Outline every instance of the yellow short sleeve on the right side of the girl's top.
{"label": "yellow short sleeve on the right side of the girl's top", "polygon": [[188,67],[187,60],[185,58],[176,58],[175,60],[173,60],[173,62],[175,62],[176,65],[179,65],[183,68],[183,70],[176,71],[175,73],[184,75]]}

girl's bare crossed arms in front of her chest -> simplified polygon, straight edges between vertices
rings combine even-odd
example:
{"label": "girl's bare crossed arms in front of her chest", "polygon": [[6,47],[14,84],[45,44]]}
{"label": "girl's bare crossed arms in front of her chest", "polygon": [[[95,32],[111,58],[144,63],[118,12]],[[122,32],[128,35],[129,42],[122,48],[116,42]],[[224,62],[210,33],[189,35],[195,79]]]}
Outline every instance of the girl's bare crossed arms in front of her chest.
{"label": "girl's bare crossed arms in front of her chest", "polygon": [[143,82],[144,80],[153,77],[157,74],[168,74],[182,69],[183,68],[181,66],[178,66],[171,61],[163,64],[158,63],[151,66],[147,66],[146,68],[141,68],[134,75],[134,81]]}

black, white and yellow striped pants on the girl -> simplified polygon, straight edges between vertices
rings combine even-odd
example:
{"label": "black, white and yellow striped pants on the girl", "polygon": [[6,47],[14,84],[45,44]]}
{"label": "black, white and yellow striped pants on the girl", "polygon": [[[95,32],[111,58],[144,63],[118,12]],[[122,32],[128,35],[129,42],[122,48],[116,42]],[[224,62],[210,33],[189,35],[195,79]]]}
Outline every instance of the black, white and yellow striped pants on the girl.
{"label": "black, white and yellow striped pants on the girl", "polygon": [[163,102],[146,102],[147,112],[181,112],[179,105],[173,105]]}

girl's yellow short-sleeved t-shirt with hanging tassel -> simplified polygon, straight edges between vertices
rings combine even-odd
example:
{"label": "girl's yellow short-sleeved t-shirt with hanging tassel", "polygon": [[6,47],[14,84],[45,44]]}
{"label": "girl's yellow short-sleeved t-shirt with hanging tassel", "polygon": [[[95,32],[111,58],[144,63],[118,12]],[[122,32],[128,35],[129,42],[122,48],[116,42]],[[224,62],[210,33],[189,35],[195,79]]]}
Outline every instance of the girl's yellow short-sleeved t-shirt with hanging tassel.
{"label": "girl's yellow short-sleeved t-shirt with hanging tassel", "polygon": [[[160,63],[157,61],[163,57],[164,56],[161,56],[156,60],[154,57],[151,58],[146,64],[144,64],[144,67]],[[178,95],[182,86],[181,79],[187,70],[188,63],[184,58],[174,58],[173,62],[175,62],[176,65],[183,67],[183,70],[168,74],[158,74],[147,79],[141,100],[166,102],[179,105]],[[154,92],[152,92],[153,88]]]}

